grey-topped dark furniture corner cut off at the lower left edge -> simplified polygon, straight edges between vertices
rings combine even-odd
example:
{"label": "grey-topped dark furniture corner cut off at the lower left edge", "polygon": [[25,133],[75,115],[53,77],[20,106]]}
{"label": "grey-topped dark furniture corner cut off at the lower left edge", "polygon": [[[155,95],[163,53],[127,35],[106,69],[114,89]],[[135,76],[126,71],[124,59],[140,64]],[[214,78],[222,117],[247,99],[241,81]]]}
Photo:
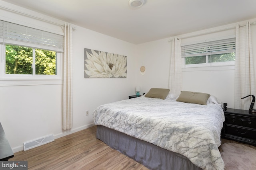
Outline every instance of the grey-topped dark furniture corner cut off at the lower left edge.
{"label": "grey-topped dark furniture corner cut off at the lower left edge", "polygon": [[12,152],[12,148],[8,140],[6,139],[6,135],[4,133],[4,129],[0,123],[0,160],[8,160],[14,156]]}

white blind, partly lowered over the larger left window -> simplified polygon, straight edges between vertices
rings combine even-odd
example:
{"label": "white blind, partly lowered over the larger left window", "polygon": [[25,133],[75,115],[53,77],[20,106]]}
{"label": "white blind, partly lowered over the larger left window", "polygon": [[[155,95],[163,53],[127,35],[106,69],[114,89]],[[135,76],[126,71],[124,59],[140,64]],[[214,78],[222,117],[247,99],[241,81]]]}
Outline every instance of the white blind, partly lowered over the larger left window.
{"label": "white blind, partly lowered over the larger left window", "polygon": [[[64,36],[15,23],[0,21],[0,42],[64,52]],[[2,36],[2,37],[1,37]]]}

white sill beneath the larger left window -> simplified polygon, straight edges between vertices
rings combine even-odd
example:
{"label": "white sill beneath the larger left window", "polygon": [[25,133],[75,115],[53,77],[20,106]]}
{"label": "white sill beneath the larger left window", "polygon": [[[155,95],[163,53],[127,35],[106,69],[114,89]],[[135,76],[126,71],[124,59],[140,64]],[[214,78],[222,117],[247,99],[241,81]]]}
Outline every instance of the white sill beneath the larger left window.
{"label": "white sill beneath the larger left window", "polygon": [[8,80],[0,79],[0,86],[32,86],[32,85],[54,85],[63,84],[63,80]]}

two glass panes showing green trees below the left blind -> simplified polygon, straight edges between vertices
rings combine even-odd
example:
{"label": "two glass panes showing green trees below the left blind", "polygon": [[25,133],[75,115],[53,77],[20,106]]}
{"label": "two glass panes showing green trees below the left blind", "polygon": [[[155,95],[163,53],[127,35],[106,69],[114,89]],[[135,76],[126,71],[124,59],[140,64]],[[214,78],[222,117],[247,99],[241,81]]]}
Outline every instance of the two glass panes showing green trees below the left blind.
{"label": "two glass panes showing green trees below the left blind", "polygon": [[56,75],[56,52],[5,45],[5,74]]}

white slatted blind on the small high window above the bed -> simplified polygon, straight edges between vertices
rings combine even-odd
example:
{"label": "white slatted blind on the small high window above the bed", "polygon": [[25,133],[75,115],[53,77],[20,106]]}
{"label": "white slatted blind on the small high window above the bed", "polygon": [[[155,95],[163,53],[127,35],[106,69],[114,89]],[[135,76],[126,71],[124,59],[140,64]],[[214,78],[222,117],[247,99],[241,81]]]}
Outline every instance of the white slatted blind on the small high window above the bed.
{"label": "white slatted blind on the small high window above the bed", "polygon": [[236,51],[236,38],[209,41],[182,46],[182,57],[233,53]]}

